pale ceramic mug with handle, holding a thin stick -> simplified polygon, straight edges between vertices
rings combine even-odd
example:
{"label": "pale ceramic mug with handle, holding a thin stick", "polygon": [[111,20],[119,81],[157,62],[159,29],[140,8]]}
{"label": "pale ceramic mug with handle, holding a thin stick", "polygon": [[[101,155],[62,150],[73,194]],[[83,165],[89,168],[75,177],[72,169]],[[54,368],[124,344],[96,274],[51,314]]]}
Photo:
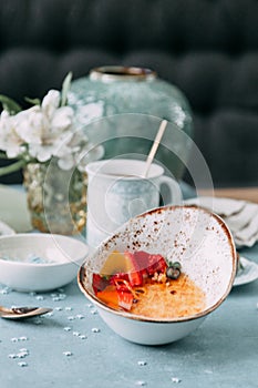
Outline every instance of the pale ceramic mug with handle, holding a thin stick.
{"label": "pale ceramic mug with handle, holding a thin stick", "polygon": [[113,159],[89,163],[86,239],[96,247],[131,217],[159,206],[161,186],[169,193],[164,204],[182,200],[178,183],[164,175],[164,169],[146,162]]}

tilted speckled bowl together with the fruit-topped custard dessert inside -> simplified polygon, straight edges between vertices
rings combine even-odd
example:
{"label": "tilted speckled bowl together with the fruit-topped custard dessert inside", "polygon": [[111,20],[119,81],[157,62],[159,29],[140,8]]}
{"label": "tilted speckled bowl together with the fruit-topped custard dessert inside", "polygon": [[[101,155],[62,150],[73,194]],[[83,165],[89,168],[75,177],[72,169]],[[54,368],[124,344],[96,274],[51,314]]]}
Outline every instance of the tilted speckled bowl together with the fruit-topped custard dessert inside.
{"label": "tilted speckled bowl together with the fruit-topped custard dessert inside", "polygon": [[166,206],[124,224],[80,268],[104,321],[138,344],[175,341],[229,294],[237,255],[226,224],[197,206]]}

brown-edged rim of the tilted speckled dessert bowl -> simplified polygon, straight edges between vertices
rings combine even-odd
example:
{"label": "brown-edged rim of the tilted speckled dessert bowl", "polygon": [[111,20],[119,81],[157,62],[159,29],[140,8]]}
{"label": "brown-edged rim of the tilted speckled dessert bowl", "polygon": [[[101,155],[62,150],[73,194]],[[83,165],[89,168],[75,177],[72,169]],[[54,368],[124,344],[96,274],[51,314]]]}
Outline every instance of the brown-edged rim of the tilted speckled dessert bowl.
{"label": "brown-edged rim of the tilted speckled dessert bowl", "polygon": [[[216,218],[217,222],[223,226],[223,229],[226,232],[228,242],[229,242],[230,247],[231,247],[231,262],[233,262],[233,269],[231,269],[231,274],[230,274],[230,279],[228,282],[228,285],[227,285],[227,288],[226,288],[225,293],[223,294],[223,296],[215,304],[213,304],[208,308],[205,308],[200,313],[197,313],[197,314],[194,314],[194,315],[189,315],[189,316],[186,316],[186,317],[174,317],[174,318],[146,317],[146,316],[143,316],[143,315],[132,314],[132,313],[125,312],[125,310],[116,310],[116,309],[107,306],[105,303],[101,302],[95,295],[93,295],[89,289],[86,289],[86,287],[83,284],[83,277],[86,276],[86,267],[85,267],[85,262],[84,262],[84,263],[82,263],[82,265],[80,266],[80,269],[78,272],[78,285],[79,285],[79,288],[81,289],[81,292],[92,303],[94,303],[99,308],[101,308],[101,309],[103,309],[103,310],[105,310],[105,312],[107,312],[110,314],[114,314],[115,316],[120,316],[120,317],[123,317],[123,318],[128,318],[128,319],[132,319],[132,320],[153,323],[153,324],[173,324],[173,323],[189,321],[189,320],[194,320],[194,319],[198,319],[198,318],[207,316],[213,310],[215,310],[219,305],[221,305],[221,303],[229,295],[229,293],[230,293],[230,290],[233,288],[233,284],[234,284],[234,279],[235,279],[236,270],[237,270],[237,252],[236,252],[236,246],[235,246],[235,243],[234,243],[234,238],[233,238],[231,232],[229,231],[229,228],[228,228],[227,224],[225,223],[225,221],[219,215],[217,215],[216,213],[213,213],[213,212],[208,211],[207,208],[202,207],[202,206],[197,206],[197,205],[168,205],[168,206],[164,206],[164,207],[156,207],[154,210],[151,210],[148,212],[145,212],[145,213],[142,213],[142,214],[137,215],[135,218],[142,218],[142,217],[145,217],[145,216],[147,216],[147,215],[149,215],[152,213],[159,212],[161,208],[163,211],[166,211],[166,210],[173,211],[173,210],[176,210],[176,208],[197,208],[197,210],[200,210],[204,213],[207,213],[211,217]],[[131,218],[131,221],[132,221],[132,218]],[[123,231],[124,226],[125,226],[125,224],[122,225],[117,231],[115,231],[114,235],[120,233],[120,231]],[[101,243],[101,245],[99,247],[104,246],[106,244],[106,242],[109,242],[111,238],[112,238],[112,236],[107,237],[104,242]],[[96,249],[94,249],[91,253],[90,256],[94,256],[95,252],[96,252]]]}

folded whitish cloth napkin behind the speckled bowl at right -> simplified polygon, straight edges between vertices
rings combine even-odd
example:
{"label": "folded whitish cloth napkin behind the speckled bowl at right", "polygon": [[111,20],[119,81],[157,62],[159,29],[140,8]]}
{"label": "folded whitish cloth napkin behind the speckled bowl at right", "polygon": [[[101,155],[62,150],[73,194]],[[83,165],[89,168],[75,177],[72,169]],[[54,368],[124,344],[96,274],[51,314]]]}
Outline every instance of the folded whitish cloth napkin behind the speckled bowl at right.
{"label": "folded whitish cloth napkin behind the speckled bowl at right", "polygon": [[209,196],[190,198],[185,204],[198,205],[218,214],[229,227],[237,247],[251,247],[258,241],[258,204]]}

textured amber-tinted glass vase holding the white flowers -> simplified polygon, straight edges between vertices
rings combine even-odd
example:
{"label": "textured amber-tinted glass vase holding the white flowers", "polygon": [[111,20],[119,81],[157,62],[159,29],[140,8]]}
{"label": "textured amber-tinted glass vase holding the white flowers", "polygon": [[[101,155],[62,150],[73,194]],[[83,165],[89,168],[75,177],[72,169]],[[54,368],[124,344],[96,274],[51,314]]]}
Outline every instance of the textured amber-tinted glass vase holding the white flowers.
{"label": "textured amber-tinted glass vase holding the white flowers", "polygon": [[61,170],[56,161],[30,163],[23,171],[32,226],[44,233],[73,235],[86,223],[86,174]]}

